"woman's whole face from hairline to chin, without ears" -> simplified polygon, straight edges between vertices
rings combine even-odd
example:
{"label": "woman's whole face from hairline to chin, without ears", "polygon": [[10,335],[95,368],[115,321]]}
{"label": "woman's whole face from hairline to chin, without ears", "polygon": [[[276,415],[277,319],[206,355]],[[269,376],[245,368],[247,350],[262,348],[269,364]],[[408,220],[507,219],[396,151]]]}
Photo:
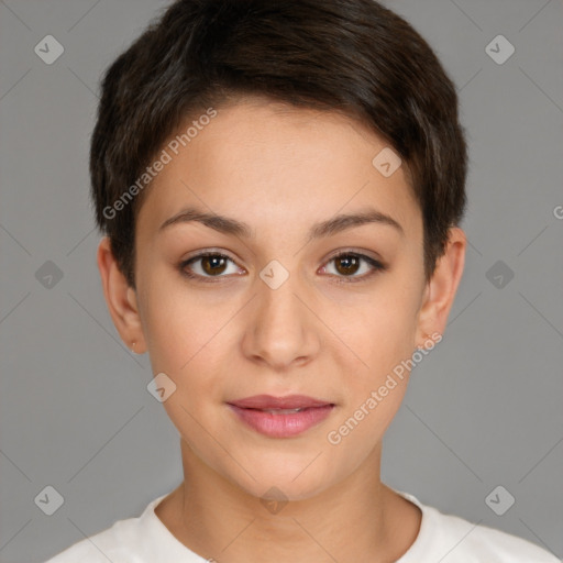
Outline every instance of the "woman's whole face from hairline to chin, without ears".
{"label": "woman's whole face from hairline to chin, without ears", "polygon": [[[140,210],[143,346],[176,385],[164,407],[194,455],[255,496],[307,498],[366,461],[400,405],[408,372],[368,399],[421,342],[421,213],[404,168],[373,164],[386,144],[350,119],[255,100],[207,121],[168,145]],[[368,213],[387,219],[341,217]],[[258,395],[324,407],[233,407]]]}

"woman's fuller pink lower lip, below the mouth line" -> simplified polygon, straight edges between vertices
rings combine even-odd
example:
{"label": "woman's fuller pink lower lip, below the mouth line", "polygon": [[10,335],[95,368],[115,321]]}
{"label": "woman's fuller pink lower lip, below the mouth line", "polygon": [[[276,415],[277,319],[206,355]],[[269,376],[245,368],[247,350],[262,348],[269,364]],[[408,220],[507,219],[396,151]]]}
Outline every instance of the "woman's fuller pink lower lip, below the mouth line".
{"label": "woman's fuller pink lower lip, below the mouth line", "polygon": [[273,415],[255,409],[243,409],[229,405],[232,411],[246,424],[271,438],[290,438],[298,435],[324,420],[332,411],[333,405],[311,407],[299,412]]}

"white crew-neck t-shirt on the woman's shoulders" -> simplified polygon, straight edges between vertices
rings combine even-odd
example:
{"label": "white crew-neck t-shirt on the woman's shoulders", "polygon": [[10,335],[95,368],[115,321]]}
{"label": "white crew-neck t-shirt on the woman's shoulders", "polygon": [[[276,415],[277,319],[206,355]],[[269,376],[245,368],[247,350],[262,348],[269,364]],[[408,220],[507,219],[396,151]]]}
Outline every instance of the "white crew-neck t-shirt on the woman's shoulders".
{"label": "white crew-neck t-shirt on the woman's shoulders", "polygon": [[[422,505],[397,490],[422,510],[420,530],[410,549],[396,563],[560,563],[536,544],[457,516]],[[118,520],[111,528],[85,538],[45,563],[205,563],[164,526],[152,500],[139,518]],[[211,560],[212,561],[212,560]]]}

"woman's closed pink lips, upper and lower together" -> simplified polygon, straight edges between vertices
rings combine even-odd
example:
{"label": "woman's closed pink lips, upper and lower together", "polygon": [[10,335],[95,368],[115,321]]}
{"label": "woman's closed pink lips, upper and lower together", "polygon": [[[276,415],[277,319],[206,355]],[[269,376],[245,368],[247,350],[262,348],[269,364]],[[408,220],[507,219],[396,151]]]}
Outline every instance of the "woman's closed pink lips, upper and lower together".
{"label": "woman's closed pink lips, upper and lower together", "polygon": [[[324,420],[334,408],[332,402],[305,395],[273,397],[255,395],[228,402],[233,412],[257,432],[271,438],[300,434]],[[302,409],[298,412],[275,413],[266,410]]]}

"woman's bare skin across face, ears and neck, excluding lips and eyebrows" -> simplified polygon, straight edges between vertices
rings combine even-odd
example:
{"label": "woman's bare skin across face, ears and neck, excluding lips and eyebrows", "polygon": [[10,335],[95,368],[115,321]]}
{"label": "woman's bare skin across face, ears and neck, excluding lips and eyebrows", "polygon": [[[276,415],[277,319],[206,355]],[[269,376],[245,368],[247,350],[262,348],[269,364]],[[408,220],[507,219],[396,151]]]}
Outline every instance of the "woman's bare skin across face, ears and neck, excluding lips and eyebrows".
{"label": "woman's bare skin across face, ears and neck, excluding lips and eyebrows", "polygon": [[[422,217],[405,166],[386,178],[372,165],[386,146],[336,112],[239,100],[218,108],[146,194],[136,224],[136,290],[108,239],[99,245],[121,338],[148,352],[153,373],[177,386],[163,406],[180,434],[185,481],[156,515],[205,558],[390,562],[418,534],[419,508],[379,473],[382,440],[409,374],[338,445],[327,439],[428,334],[443,333],[463,272],[466,239],[452,228],[424,283]],[[254,236],[198,222],[159,231],[188,206],[243,221]],[[367,223],[308,241],[313,223],[366,207],[404,232]],[[180,263],[210,247],[233,262],[205,271],[200,260],[191,271],[222,277],[183,276]],[[345,283],[346,264],[330,260],[338,251],[368,255],[386,269]],[[260,277],[273,260],[289,274],[277,289]],[[369,272],[362,263],[349,277]],[[225,405],[257,394],[303,394],[335,408],[302,434],[274,439]],[[288,499],[276,514],[260,501],[272,486]]]}

